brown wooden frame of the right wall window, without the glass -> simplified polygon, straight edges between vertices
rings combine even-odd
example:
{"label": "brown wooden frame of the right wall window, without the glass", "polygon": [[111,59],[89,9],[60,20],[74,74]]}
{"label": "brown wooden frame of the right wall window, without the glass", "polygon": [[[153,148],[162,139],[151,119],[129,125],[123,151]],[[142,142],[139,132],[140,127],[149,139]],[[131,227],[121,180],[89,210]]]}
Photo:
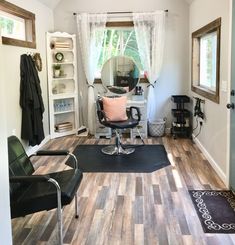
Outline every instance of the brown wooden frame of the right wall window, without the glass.
{"label": "brown wooden frame of the right wall window, without the glass", "polygon": [[[198,71],[196,74],[200,77],[200,38],[208,33],[217,33],[217,58],[216,58],[216,91],[211,91],[203,86],[194,84],[194,41],[196,40],[199,44],[199,55],[198,55]],[[199,30],[192,33],[192,54],[191,54],[191,90],[215,103],[219,104],[219,92],[220,92],[220,39],[221,39],[221,18],[214,20],[208,25],[200,28]]]}

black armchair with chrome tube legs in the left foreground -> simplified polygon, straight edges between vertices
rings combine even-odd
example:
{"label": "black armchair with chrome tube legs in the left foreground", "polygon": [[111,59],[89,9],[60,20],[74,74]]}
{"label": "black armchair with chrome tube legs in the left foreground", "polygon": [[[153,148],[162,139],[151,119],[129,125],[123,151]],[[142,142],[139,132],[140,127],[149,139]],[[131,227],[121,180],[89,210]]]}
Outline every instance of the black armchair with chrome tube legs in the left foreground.
{"label": "black armchair with chrome tube legs in the left foreground", "polygon": [[68,151],[38,151],[32,156],[66,156],[74,160],[74,169],[33,175],[34,168],[21,142],[15,136],[8,138],[11,218],[22,217],[42,210],[57,208],[59,243],[63,244],[62,207],[75,197],[82,180],[77,159]]}

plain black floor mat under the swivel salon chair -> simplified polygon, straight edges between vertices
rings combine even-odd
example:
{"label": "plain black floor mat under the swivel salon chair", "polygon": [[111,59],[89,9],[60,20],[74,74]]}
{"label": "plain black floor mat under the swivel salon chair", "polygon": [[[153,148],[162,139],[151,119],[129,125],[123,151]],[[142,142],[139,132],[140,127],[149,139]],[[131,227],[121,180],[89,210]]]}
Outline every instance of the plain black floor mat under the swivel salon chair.
{"label": "plain black floor mat under the swivel salon chair", "polygon": [[[130,155],[116,156],[102,153],[104,146],[79,145],[75,148],[73,153],[84,172],[150,173],[170,164],[163,145],[144,145],[137,147]],[[66,164],[73,166],[71,159]]]}

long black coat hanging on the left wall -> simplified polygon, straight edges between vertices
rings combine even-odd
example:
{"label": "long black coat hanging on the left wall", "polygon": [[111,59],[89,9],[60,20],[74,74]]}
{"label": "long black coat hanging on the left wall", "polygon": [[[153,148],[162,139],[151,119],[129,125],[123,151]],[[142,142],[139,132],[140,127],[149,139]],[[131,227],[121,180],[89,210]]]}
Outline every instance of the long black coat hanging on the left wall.
{"label": "long black coat hanging on the left wall", "polygon": [[20,59],[20,106],[22,108],[21,138],[29,145],[39,145],[44,139],[44,105],[40,80],[33,59],[23,54]]}

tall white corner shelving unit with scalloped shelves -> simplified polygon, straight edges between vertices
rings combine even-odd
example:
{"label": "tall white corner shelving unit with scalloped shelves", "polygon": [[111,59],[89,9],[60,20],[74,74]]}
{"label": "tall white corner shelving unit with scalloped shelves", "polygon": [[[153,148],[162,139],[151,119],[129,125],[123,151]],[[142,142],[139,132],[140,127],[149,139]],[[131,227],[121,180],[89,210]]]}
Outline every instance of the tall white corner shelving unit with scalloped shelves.
{"label": "tall white corner shelving unit with scalloped shelves", "polygon": [[[62,54],[61,61],[56,59],[58,53]],[[76,54],[76,36],[74,34],[47,33],[51,138],[77,133],[79,114]],[[60,66],[59,75],[55,74],[55,66],[58,65]]]}

